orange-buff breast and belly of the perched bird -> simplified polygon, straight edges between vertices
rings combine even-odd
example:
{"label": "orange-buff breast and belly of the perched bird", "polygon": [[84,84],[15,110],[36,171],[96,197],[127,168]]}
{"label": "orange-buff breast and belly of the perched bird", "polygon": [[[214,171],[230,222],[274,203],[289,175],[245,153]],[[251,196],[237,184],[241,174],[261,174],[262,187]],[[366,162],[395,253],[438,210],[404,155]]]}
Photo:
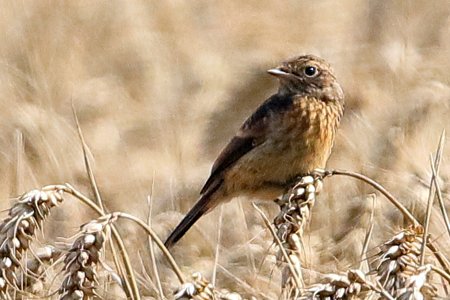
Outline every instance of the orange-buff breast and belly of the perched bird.
{"label": "orange-buff breast and belly of the perched bird", "polygon": [[[229,191],[256,190],[324,168],[342,109],[308,99],[274,116],[263,144],[244,155],[225,175]],[[310,101],[309,101],[310,100]]]}

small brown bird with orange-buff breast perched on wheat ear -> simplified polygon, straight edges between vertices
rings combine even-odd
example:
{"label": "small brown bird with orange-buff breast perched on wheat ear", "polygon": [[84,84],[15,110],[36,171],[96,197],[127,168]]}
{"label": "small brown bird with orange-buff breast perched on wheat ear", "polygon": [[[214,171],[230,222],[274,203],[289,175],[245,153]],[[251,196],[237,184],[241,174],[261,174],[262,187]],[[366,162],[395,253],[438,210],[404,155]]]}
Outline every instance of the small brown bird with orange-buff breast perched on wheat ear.
{"label": "small brown bird with orange-buff breast perched on wheat ear", "polygon": [[205,213],[237,196],[274,200],[289,183],[323,169],[344,114],[344,92],[327,61],[300,55],[267,71],[277,93],[239,128],[214,162],[196,204],[165,241],[167,248]]}

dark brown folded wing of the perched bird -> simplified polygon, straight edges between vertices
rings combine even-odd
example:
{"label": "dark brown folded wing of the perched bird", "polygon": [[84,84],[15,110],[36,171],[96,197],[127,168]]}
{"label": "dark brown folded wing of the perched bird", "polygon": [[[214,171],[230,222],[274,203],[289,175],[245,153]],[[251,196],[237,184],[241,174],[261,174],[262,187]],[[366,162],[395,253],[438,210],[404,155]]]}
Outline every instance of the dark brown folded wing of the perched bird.
{"label": "dark brown folded wing of the perched bird", "polygon": [[291,96],[275,94],[267,99],[245,121],[237,134],[219,154],[212,167],[211,175],[200,194],[205,193],[214,181],[221,180],[223,172],[233,166],[242,156],[262,144],[266,140],[270,118],[287,110],[291,105]]}

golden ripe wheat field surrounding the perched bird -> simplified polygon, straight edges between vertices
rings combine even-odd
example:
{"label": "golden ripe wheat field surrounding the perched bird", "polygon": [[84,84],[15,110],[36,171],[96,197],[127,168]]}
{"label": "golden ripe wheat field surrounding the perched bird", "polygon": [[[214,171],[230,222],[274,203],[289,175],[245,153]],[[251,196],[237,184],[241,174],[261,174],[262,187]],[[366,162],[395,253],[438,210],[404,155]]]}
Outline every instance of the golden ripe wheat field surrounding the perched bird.
{"label": "golden ripe wheat field surrounding the perched bird", "polygon": [[[430,164],[450,132],[449,1],[1,1],[0,37],[2,298],[173,299],[182,283],[149,230],[167,237],[222,147],[276,92],[266,70],[299,54],[329,61],[346,95],[327,168],[378,182],[426,228],[367,182],[333,175],[302,206],[298,267],[253,206],[272,222],[281,204],[238,198],[171,250],[186,282],[199,272],[211,283],[196,275],[184,297],[450,297],[438,201],[450,207],[449,143],[437,185]],[[106,211],[120,212],[94,223],[85,158]],[[48,246],[54,257],[39,256]]]}

